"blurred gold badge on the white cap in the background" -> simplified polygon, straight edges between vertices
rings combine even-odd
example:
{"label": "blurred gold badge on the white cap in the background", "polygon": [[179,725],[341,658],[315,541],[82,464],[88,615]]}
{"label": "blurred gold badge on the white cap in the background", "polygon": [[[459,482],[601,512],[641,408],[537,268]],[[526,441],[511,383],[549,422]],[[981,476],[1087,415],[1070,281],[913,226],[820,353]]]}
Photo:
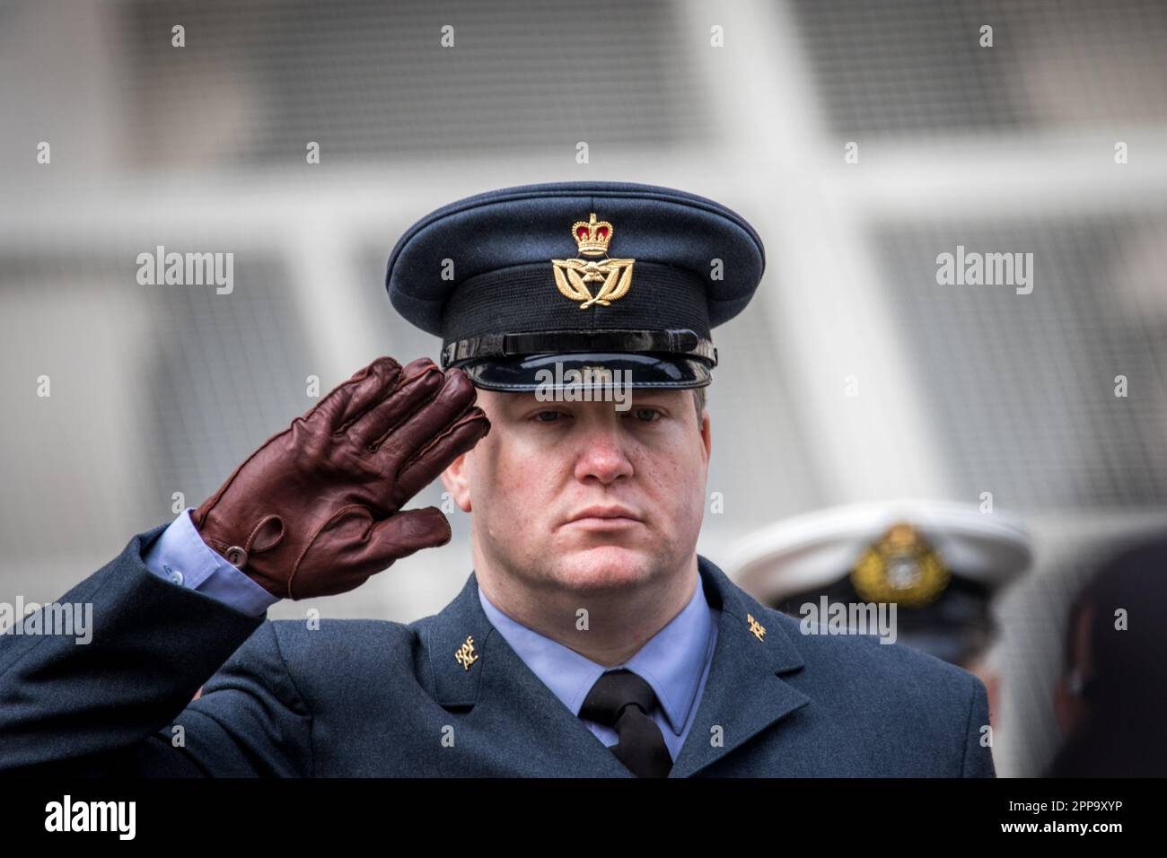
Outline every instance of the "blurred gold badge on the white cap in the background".
{"label": "blurred gold badge on the white cap in the background", "polygon": [[851,572],[861,599],[921,607],[935,600],[949,584],[949,571],[939,554],[910,524],[895,524],[864,551]]}

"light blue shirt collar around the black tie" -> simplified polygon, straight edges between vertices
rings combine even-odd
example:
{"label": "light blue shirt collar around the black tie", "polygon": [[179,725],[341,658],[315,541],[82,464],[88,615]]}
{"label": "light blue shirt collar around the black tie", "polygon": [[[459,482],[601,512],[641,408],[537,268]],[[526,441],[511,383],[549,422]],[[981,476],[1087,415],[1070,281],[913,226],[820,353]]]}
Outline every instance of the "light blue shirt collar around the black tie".
{"label": "light blue shirt collar around the black tie", "polygon": [[711,654],[713,618],[700,574],[693,597],[664,628],[627,662],[605,668],[564,644],[527,628],[499,611],[478,587],[482,609],[491,625],[544,685],[578,716],[588,691],[606,670],[627,668],[643,677],[680,735]]}

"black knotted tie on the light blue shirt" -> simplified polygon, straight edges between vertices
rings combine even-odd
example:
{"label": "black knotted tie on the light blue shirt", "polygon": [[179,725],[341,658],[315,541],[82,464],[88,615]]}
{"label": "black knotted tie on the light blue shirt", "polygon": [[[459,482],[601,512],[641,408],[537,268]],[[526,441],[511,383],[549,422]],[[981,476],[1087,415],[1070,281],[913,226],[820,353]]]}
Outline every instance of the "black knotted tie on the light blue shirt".
{"label": "black knotted tie on the light blue shirt", "polygon": [[620,741],[610,751],[637,777],[666,777],[672,756],[661,727],[649,717],[656,704],[644,679],[630,670],[610,670],[595,681],[579,717],[616,728]]}

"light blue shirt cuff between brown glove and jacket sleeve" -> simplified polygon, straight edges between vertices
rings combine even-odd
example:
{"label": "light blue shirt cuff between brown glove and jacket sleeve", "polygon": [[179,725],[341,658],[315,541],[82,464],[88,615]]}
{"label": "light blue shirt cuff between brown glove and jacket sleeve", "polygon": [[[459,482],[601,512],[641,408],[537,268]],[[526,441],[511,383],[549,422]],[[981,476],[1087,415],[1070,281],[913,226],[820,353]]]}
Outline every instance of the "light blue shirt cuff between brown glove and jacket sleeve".
{"label": "light blue shirt cuff between brown glove and jacket sleeve", "polygon": [[203,542],[184,509],[162,531],[142,559],[159,578],[195,590],[251,616],[261,616],[279,599],[232,566]]}

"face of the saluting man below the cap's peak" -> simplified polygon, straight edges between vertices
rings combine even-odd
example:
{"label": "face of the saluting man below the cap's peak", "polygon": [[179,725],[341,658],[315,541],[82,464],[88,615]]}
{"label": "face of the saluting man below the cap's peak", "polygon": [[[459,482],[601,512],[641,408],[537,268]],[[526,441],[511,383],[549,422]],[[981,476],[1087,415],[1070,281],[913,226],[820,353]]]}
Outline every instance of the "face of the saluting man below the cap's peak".
{"label": "face of the saluting man below the cap's peak", "polygon": [[442,481],[473,511],[476,556],[492,568],[533,588],[587,591],[689,567],[711,449],[691,390],[634,390],[626,411],[490,390],[477,405],[490,433]]}

